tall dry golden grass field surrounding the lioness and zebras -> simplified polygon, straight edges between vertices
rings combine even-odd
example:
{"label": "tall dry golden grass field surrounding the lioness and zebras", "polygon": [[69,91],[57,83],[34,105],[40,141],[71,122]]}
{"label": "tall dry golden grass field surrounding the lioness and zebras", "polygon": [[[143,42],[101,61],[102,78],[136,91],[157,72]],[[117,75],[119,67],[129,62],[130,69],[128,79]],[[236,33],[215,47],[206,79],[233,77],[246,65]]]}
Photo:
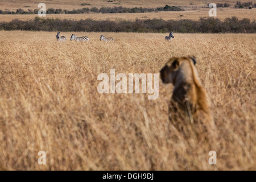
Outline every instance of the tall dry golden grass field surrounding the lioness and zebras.
{"label": "tall dry golden grass field surrounding the lioness and zebras", "polygon": [[[0,31],[0,169],[255,170],[256,34]],[[100,42],[100,35],[115,42]],[[99,94],[100,73],[159,73],[172,56],[195,55],[217,139],[184,139],[168,121],[171,85],[159,98]],[[180,125],[184,125],[180,121]],[[186,127],[186,126],[184,126]],[[192,131],[191,131],[192,132]],[[46,151],[46,165],[38,164]],[[217,165],[208,152],[217,152]]]}

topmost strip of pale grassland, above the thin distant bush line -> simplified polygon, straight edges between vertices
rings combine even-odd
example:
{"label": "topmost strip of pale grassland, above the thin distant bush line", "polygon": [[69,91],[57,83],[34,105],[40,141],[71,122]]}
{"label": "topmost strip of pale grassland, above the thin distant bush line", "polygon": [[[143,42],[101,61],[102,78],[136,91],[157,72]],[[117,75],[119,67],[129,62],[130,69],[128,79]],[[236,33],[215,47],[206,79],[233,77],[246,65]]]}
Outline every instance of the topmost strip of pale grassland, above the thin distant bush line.
{"label": "topmost strip of pale grassland, above the thin distant bush line", "polygon": [[[241,2],[248,2],[248,0],[240,0]],[[230,3],[232,5],[236,4],[237,0],[216,0],[214,3]],[[47,8],[54,8],[54,9],[81,9],[83,7],[114,7],[114,6],[123,6],[123,7],[160,7],[165,5],[171,6],[187,6],[187,7],[202,7],[210,3],[209,0],[201,1],[187,1],[187,0],[115,0],[115,2],[108,2],[108,0],[88,0],[88,1],[81,1],[81,0],[42,0],[35,2],[33,0],[2,0],[0,2],[0,9],[5,10],[16,10],[18,8],[22,8],[24,10],[27,9],[37,9],[39,3],[45,3]],[[81,6],[82,3],[89,3],[88,6]],[[192,5],[191,5],[192,3]]]}

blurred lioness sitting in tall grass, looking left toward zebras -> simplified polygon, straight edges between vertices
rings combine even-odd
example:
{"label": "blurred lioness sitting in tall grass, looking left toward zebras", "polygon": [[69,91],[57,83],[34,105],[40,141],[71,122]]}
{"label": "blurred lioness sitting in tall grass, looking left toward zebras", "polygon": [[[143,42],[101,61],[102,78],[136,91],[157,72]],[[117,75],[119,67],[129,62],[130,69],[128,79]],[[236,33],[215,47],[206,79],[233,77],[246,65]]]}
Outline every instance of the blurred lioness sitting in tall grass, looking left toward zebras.
{"label": "blurred lioness sitting in tall grass, looking left toward zebras", "polygon": [[214,129],[214,122],[195,64],[195,57],[172,57],[161,69],[160,77],[164,84],[174,85],[169,105],[171,123],[184,137],[191,137],[193,131],[204,138]]}

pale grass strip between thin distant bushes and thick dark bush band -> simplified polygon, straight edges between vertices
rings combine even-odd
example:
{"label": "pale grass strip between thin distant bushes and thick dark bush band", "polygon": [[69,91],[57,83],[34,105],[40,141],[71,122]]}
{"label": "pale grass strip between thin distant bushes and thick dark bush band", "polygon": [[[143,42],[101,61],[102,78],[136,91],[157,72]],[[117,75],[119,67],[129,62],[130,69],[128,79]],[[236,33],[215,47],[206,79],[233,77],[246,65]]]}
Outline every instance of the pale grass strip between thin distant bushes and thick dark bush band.
{"label": "pale grass strip between thin distant bushes and thick dark bush band", "polygon": [[[120,14],[47,14],[46,18],[59,18],[59,19],[73,19],[80,20],[91,18],[94,20],[135,20],[135,19],[192,19],[198,20],[200,17],[209,17],[209,9],[187,10],[187,11],[167,11],[158,13],[120,13]],[[183,16],[180,16],[183,15]],[[224,20],[225,18],[231,18],[237,16],[238,19],[248,18],[254,20],[256,17],[256,9],[217,9],[217,18]],[[38,15],[0,15],[0,22],[18,18],[21,20],[29,20],[38,17]]]}

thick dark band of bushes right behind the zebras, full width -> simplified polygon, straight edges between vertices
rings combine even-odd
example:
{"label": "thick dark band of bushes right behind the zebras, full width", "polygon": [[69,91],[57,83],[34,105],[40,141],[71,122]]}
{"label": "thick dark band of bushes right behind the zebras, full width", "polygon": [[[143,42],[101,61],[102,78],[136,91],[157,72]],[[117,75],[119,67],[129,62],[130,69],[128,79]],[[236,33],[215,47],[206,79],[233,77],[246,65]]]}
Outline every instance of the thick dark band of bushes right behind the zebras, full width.
{"label": "thick dark band of bushes right behind the zebras, full width", "polygon": [[181,33],[256,33],[256,23],[250,19],[238,20],[236,17],[208,17],[199,20],[163,20],[147,19],[135,21],[121,20],[68,20],[38,18],[33,20],[14,19],[0,22],[0,30],[26,31],[86,31],[86,32],[181,32]]}

